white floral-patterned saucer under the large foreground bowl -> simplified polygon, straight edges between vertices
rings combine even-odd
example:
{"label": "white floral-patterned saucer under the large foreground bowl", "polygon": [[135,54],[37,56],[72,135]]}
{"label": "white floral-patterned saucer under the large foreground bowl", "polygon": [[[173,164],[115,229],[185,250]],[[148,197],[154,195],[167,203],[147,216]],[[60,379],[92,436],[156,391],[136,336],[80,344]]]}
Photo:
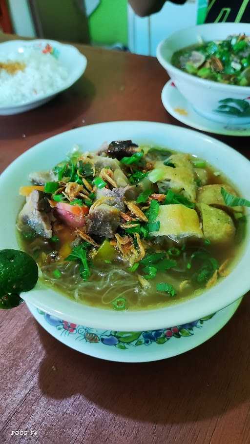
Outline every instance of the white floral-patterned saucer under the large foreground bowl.
{"label": "white floral-patterned saucer under the large foreground bowl", "polygon": [[204,343],[229,321],[241,300],[199,321],[144,332],[89,328],[62,321],[30,303],[27,306],[48,333],[74,350],[108,361],[139,363],[170,358]]}

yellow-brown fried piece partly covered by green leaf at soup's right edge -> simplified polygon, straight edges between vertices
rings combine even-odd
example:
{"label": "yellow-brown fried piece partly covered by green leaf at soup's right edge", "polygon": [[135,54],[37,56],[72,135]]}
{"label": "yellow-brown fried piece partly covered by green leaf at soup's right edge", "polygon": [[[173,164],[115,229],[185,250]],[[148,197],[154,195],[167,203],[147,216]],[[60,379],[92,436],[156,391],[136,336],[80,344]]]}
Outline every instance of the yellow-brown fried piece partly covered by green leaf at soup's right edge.
{"label": "yellow-brown fried piece partly covered by green leaf at soup's right edge", "polygon": [[228,193],[233,196],[237,196],[235,190],[227,183],[216,183],[213,185],[205,185],[198,188],[197,191],[197,202],[206,203],[207,205],[217,205],[220,207],[230,208],[232,211],[242,212],[241,206],[229,207],[224,202],[223,196],[221,194],[221,188],[224,188]]}

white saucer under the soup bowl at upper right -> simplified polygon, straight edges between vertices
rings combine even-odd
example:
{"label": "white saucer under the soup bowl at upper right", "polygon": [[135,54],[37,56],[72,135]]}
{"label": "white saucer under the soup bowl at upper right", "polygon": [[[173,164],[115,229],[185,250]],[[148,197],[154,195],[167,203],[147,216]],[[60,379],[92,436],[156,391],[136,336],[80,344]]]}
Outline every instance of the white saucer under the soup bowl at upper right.
{"label": "white saucer under the soup bowl at upper right", "polygon": [[225,136],[250,136],[250,125],[224,125],[206,119],[197,114],[190,103],[179,92],[171,79],[162,90],[162,102],[164,108],[178,121],[192,128]]}

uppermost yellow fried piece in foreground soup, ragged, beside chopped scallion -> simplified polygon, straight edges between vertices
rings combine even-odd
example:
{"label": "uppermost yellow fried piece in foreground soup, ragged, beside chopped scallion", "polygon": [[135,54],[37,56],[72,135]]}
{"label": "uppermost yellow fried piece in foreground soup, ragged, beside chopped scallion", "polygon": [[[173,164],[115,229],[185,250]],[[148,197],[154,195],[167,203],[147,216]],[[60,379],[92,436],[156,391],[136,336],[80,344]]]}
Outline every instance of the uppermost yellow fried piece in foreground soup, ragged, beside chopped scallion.
{"label": "uppermost yellow fried piece in foreground soup, ragged, beside chopped scallion", "polygon": [[173,168],[164,165],[162,162],[156,162],[155,169],[148,174],[148,179],[153,183],[169,181],[169,188],[173,188],[176,192],[183,191],[187,199],[195,201],[196,183],[194,181],[194,173],[189,168],[183,166]]}

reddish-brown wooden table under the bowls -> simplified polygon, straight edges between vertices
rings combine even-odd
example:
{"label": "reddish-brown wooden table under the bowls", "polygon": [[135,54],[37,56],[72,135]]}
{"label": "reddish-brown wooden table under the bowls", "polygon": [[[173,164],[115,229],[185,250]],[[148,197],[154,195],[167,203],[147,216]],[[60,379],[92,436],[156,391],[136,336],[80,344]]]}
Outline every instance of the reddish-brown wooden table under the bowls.
{"label": "reddish-brown wooden table under the bowls", "polygon": [[[156,59],[79,49],[88,66],[77,84],[41,108],[0,118],[1,170],[35,143],[78,126],[179,124],[161,103],[167,75]],[[249,155],[249,138],[224,140]],[[141,364],[105,362],[67,348],[24,304],[2,311],[0,443],[250,443],[249,311],[245,298],[207,343]],[[20,439],[13,430],[37,434]]]}

